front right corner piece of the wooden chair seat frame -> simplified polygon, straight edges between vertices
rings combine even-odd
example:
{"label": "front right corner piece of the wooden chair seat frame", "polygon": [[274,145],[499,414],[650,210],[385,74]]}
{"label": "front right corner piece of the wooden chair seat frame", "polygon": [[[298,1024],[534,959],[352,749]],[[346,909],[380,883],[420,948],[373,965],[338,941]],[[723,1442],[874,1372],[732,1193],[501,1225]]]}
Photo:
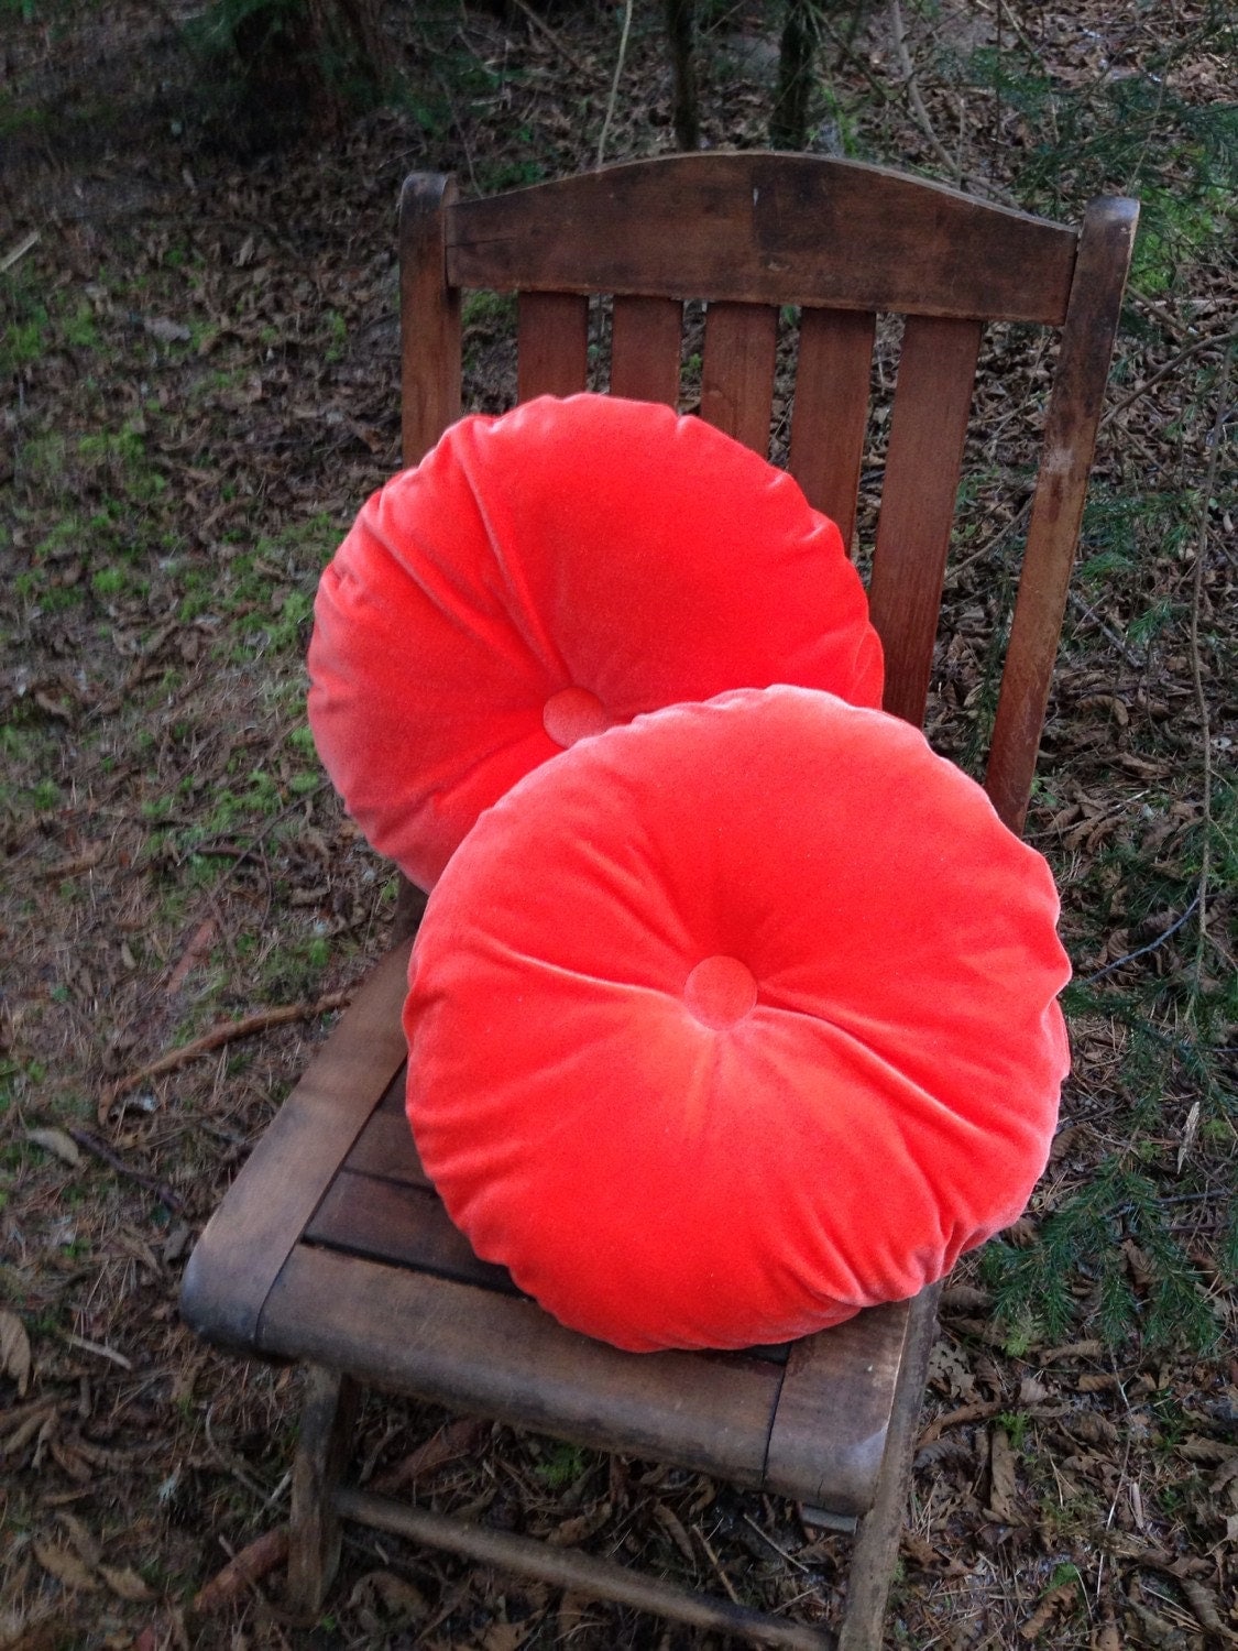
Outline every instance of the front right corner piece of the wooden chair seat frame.
{"label": "front right corner piece of the wooden chair seat frame", "polygon": [[834,1514],[867,1512],[906,1327],[908,1303],[898,1301],[792,1346],[769,1431],[766,1489]]}

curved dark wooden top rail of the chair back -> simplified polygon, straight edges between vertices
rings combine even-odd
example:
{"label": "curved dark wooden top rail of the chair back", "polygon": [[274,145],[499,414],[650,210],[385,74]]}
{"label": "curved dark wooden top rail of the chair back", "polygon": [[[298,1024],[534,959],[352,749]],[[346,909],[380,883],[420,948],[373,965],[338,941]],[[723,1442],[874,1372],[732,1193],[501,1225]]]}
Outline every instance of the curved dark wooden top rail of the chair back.
{"label": "curved dark wooden top rail of the chair back", "polygon": [[1075,233],[881,167],[670,155],[461,201],[462,287],[819,304],[1060,325]]}

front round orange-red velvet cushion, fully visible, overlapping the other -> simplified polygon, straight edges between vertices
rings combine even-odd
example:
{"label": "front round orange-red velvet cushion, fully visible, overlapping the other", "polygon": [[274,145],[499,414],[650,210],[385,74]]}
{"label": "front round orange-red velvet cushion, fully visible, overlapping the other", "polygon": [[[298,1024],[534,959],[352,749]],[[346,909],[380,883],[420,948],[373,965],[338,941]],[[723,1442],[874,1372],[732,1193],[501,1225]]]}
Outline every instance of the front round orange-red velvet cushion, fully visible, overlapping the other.
{"label": "front round orange-red velvet cushion, fully visible, overlapping the other", "polygon": [[794,687],[640,717],[515,786],[429,898],[423,1162],[482,1258],[619,1347],[911,1296],[1045,1167],[1056,915],[903,721]]}

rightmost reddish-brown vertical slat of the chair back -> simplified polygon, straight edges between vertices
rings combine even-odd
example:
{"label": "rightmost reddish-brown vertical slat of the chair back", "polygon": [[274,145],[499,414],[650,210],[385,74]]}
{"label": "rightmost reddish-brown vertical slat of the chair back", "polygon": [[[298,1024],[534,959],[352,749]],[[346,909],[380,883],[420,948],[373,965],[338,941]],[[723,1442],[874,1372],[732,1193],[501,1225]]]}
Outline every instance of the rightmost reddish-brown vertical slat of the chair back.
{"label": "rightmost reddish-brown vertical slat of the chair back", "polygon": [[885,708],[924,720],[980,322],[910,315],[898,363],[868,606]]}

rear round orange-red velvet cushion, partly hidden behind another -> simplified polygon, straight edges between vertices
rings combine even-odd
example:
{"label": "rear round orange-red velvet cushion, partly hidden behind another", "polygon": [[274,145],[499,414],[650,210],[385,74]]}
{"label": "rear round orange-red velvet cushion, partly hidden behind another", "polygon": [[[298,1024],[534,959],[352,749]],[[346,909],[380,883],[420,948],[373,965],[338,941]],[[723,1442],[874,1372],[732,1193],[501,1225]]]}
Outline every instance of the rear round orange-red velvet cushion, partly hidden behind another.
{"label": "rear round orange-red velvet cushion, partly hidden behind another", "polygon": [[834,523],[730,436],[612,396],[454,424],[365,505],[314,614],[324,764],[423,888],[583,735],[771,682],[881,700]]}

